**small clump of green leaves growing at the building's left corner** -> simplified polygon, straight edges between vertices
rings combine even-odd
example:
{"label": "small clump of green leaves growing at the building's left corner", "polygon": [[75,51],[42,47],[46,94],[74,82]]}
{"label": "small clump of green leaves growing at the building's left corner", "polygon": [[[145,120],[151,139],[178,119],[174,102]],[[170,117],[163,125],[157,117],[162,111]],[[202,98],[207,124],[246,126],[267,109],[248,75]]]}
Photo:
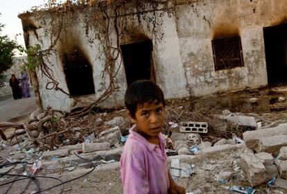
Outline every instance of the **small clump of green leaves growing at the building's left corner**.
{"label": "small clump of green leaves growing at the building's left corner", "polygon": [[28,49],[22,49],[27,54],[27,62],[24,64],[25,71],[35,71],[42,64],[42,56],[40,55],[40,45],[36,44]]}

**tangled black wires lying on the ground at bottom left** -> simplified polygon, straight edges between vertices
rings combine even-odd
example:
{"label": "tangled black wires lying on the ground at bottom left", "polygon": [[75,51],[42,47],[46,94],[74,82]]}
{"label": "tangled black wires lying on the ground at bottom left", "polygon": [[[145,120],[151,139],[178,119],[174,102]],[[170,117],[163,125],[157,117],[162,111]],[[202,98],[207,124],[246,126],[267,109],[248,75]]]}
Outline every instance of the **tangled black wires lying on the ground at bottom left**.
{"label": "tangled black wires lying on the ground at bottom left", "polygon": [[[64,184],[66,184],[68,182],[72,182],[72,181],[74,181],[76,179],[80,179],[81,177],[85,177],[86,175],[88,175],[89,173],[92,173],[92,171],[96,169],[96,164],[92,163],[92,161],[89,161],[88,159],[80,157],[76,152],[74,153],[74,155],[76,155],[77,157],[79,157],[80,159],[82,159],[84,161],[87,161],[89,164],[92,164],[92,166],[94,168],[92,168],[92,170],[89,170],[89,172],[85,173],[84,175],[80,175],[79,177],[76,177],[76,178],[73,178],[73,179],[69,179],[66,182],[62,182],[60,179],[55,178],[55,177],[31,176],[31,175],[15,175],[15,174],[9,174],[8,172],[0,173],[0,175],[2,175],[2,176],[6,175],[6,176],[11,176],[11,177],[24,177],[22,179],[14,179],[14,180],[12,180],[10,182],[6,182],[6,183],[3,183],[3,184],[0,184],[0,187],[4,186],[6,184],[10,184],[10,183],[14,184],[15,182],[18,182],[18,181],[21,181],[21,180],[24,180],[24,179],[30,179],[30,182],[28,182],[28,184],[26,185],[26,187],[25,187],[25,189],[24,189],[24,191],[22,193],[24,193],[26,191],[26,189],[28,188],[28,185],[31,183],[31,180],[33,180],[34,184],[37,186],[37,192],[35,192],[35,193],[41,193],[41,192],[47,191],[47,190],[49,190],[51,188],[55,188],[55,187],[64,185]],[[15,162],[15,163],[10,163],[10,164],[3,164],[0,167],[3,168],[3,166],[11,166],[13,164],[21,164],[21,162]],[[12,169],[10,169],[10,170],[12,170]],[[8,170],[8,171],[10,171],[10,170]],[[37,180],[38,178],[56,179],[56,180],[58,180],[60,182],[60,184],[56,184],[54,186],[51,186],[49,188],[45,188],[45,189],[41,190],[39,181]],[[8,191],[10,190],[11,187],[12,187],[12,185],[8,188]],[[62,187],[62,191],[60,192],[60,194],[63,193],[63,192],[64,192],[64,186]]]}

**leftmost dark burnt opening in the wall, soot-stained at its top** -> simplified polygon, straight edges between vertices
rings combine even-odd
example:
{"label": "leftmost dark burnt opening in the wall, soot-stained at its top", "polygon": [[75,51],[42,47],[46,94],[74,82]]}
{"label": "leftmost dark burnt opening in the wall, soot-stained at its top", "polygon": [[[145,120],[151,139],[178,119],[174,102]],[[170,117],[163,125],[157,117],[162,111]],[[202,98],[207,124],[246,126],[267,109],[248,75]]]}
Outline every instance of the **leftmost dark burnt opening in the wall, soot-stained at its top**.
{"label": "leftmost dark burnt opening in the wall, soot-stained at its top", "polygon": [[64,53],[64,73],[71,96],[95,94],[91,64],[78,48]]}

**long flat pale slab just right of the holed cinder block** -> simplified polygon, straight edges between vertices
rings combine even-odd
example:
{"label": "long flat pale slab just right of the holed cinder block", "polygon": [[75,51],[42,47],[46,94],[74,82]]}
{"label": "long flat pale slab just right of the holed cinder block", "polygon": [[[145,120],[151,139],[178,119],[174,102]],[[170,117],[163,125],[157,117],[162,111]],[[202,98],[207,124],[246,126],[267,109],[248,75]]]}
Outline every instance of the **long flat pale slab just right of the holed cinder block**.
{"label": "long flat pale slab just right of the holed cinder block", "polygon": [[235,114],[225,115],[216,115],[218,118],[225,119],[234,123],[234,125],[240,126],[250,126],[253,129],[257,128],[257,123],[252,116],[239,116]]}

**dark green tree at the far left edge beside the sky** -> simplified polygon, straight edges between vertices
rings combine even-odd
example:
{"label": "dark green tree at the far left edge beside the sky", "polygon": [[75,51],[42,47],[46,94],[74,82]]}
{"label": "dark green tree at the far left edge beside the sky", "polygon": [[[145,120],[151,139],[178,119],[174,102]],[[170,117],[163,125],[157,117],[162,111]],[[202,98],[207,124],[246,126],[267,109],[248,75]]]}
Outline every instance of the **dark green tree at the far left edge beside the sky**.
{"label": "dark green tree at the far left edge beside the sky", "polygon": [[10,40],[8,35],[1,35],[3,27],[4,25],[0,24],[0,78],[3,71],[12,66],[12,57],[15,48],[19,48],[15,40]]}

